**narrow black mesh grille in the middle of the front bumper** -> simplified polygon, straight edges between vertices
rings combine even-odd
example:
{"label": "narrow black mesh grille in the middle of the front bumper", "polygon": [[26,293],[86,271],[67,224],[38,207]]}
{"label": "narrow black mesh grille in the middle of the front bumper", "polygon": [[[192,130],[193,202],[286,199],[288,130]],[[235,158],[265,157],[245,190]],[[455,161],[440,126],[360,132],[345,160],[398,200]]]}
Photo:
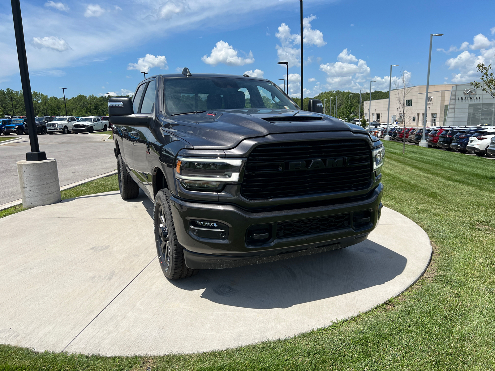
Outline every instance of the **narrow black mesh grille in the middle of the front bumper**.
{"label": "narrow black mesh grille in the middle of the front bumper", "polygon": [[349,214],[293,220],[290,222],[282,222],[277,224],[277,237],[286,238],[300,236],[303,234],[330,232],[347,228],[349,225]]}

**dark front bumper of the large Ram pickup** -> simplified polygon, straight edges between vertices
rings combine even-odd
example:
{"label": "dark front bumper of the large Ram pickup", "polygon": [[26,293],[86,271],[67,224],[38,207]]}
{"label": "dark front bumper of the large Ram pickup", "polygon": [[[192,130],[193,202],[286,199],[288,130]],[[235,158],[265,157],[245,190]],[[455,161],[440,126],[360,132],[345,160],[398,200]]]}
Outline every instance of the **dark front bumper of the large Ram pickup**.
{"label": "dark front bumper of the large Ram pickup", "polygon": [[[178,242],[184,247],[186,266],[191,269],[239,267],[314,254],[356,244],[373,231],[381,212],[383,185],[356,201],[294,210],[250,212],[235,205],[206,204],[171,197],[172,216]],[[370,220],[353,222],[366,212]],[[278,237],[277,224],[334,215],[350,215],[350,225],[337,230]],[[228,226],[224,239],[198,237],[192,221],[214,221]],[[248,243],[252,226],[271,226],[272,237],[263,243]],[[251,240],[252,241],[252,240]]]}

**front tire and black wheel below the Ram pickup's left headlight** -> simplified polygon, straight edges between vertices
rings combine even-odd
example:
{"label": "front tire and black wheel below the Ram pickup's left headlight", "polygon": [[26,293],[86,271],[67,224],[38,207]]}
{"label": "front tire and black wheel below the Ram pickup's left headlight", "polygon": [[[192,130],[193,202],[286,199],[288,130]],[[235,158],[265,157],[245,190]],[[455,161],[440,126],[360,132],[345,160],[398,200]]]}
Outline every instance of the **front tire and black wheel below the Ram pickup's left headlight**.
{"label": "front tire and black wheel below the Ram pickup's left headlight", "polygon": [[168,189],[156,193],[153,206],[153,227],[156,252],[163,274],[168,279],[191,277],[199,273],[197,269],[186,267],[184,248],[179,244],[175,233]]}

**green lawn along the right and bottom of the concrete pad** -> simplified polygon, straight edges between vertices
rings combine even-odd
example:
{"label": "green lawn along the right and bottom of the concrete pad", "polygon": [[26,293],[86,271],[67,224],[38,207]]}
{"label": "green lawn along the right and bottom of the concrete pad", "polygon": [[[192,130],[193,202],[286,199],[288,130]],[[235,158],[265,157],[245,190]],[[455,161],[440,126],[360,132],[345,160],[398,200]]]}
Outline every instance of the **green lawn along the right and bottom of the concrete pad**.
{"label": "green lawn along the right and bottom of the concrete pad", "polygon": [[218,352],[89,357],[2,345],[0,370],[494,370],[495,161],[385,146],[383,203],[434,245],[425,276],[398,298],[290,339]]}

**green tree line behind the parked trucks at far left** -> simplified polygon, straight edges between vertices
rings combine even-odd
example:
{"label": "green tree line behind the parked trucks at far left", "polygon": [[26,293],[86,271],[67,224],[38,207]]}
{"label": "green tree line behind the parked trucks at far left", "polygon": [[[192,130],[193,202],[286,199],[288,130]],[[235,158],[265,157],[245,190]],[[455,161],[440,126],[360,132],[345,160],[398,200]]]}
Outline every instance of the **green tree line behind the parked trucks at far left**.
{"label": "green tree line behind the parked trucks at far left", "polygon": [[[78,94],[72,98],[48,96],[32,92],[34,114],[36,116],[65,116],[65,106],[69,116],[107,116],[108,95]],[[26,116],[22,90],[0,89],[0,117],[4,115]]]}

